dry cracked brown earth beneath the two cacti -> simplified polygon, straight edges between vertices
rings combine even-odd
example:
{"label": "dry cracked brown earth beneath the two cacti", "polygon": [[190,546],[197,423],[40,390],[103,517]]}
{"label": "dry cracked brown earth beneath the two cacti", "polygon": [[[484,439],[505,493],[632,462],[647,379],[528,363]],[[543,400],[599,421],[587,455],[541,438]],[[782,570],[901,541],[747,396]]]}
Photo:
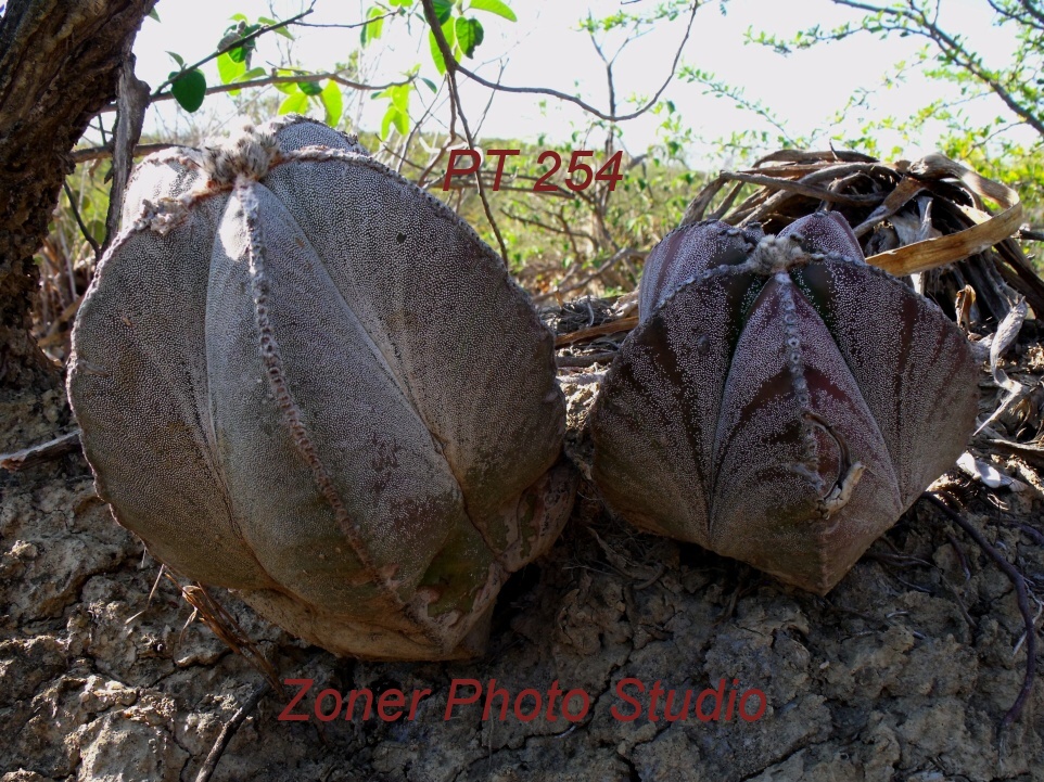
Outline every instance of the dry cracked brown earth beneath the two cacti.
{"label": "dry cracked brown earth beneath the two cacti", "polygon": [[[1016,352],[1020,379],[1040,385],[1036,336]],[[988,379],[985,406],[996,397]],[[594,386],[565,387],[571,451],[583,463],[576,427]],[[1023,419],[1040,415],[1035,403]],[[71,428],[59,394],[0,400],[0,452]],[[966,518],[1044,594],[1037,473],[1018,460],[994,465],[1020,482],[1018,491],[986,491],[966,478],[951,487]],[[0,471],[0,490],[3,782],[194,780],[262,675],[189,621],[192,608],[170,580],[158,579],[150,601],[160,564],[113,522],[78,452]],[[280,679],[315,680],[296,712],[309,714],[326,688],[432,691],[413,720],[392,722],[358,714],[281,721],[287,702],[270,693],[234,733],[214,780],[1044,780],[1044,682],[997,735],[1027,665],[1011,584],[926,503],[824,599],[637,534],[609,517],[582,482],[566,533],[509,582],[488,652],[469,663],[338,659],[260,620],[234,595],[214,594]],[[1039,616],[1040,604],[1031,607]],[[483,687],[496,679],[512,696],[546,693],[557,680],[586,693],[589,709],[575,723],[558,710],[553,721],[511,714],[499,721],[498,707],[483,720],[480,703],[446,719],[460,679]],[[675,713],[685,690],[698,694],[722,679],[726,693],[762,691],[766,707],[752,721],[737,714],[726,721],[724,713],[670,721],[662,702],[650,717],[647,693],[641,715],[624,721],[618,716],[634,707],[618,687],[627,679],[678,691]],[[750,714],[759,700],[746,704]],[[527,714],[532,700],[522,705]],[[323,707],[333,707],[332,696]],[[581,707],[576,694],[570,708]],[[712,710],[709,700],[704,713]]]}

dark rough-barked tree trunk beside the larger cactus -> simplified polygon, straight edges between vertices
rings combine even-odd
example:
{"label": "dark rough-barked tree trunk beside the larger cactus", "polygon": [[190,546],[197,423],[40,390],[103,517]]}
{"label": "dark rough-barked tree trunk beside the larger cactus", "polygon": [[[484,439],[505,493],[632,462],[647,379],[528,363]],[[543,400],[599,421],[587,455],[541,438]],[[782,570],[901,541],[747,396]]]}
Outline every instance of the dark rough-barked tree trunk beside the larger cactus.
{"label": "dark rough-barked tree trunk beside the larger cactus", "polygon": [[54,387],[29,333],[68,153],[116,95],[120,64],[154,0],[13,0],[0,20],[0,388]]}

